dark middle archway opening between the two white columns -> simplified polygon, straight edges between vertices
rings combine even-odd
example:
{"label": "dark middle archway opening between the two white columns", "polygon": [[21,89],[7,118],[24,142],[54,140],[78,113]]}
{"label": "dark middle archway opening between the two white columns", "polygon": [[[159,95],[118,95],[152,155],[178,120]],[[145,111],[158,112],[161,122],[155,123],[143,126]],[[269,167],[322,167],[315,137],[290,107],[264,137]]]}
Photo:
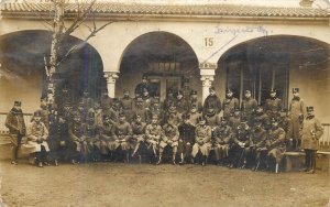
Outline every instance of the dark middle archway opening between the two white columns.
{"label": "dark middle archway opening between the two white columns", "polygon": [[[166,67],[169,69],[175,67],[177,70],[173,72],[174,74],[166,73],[164,70],[151,72],[151,63],[164,63],[164,69],[166,69]],[[167,63],[168,66],[166,65]],[[170,63],[178,64],[170,66]],[[128,66],[128,64],[132,64],[138,68],[136,73],[132,75],[132,77],[129,77],[128,75],[130,74],[128,73],[130,69],[130,72],[133,72],[132,68],[129,68],[130,66]],[[163,66],[160,65],[160,68],[161,67]],[[129,89],[130,91],[133,91],[135,85],[141,81],[143,73],[150,74],[151,76],[162,76],[161,74],[163,74],[163,76],[168,76],[169,74],[170,76],[177,75],[183,78],[189,78],[193,81],[190,83],[191,85],[195,85],[195,83],[201,85],[199,83],[198,58],[195,51],[186,40],[170,32],[147,32],[139,35],[124,47],[120,61],[120,75],[117,81],[116,95],[121,96],[121,91],[123,89],[122,78],[130,79],[132,85],[129,86]],[[125,85],[125,87],[128,86]]]}

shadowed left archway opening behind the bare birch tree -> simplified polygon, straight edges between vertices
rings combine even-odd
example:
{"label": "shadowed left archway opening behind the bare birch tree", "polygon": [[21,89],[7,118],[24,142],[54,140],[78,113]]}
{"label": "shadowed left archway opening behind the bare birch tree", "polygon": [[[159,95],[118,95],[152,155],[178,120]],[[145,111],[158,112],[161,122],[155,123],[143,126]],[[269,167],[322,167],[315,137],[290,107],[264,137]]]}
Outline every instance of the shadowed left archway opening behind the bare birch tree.
{"label": "shadowed left archway opening behind the bare birch tree", "polygon": [[[22,99],[22,102],[25,103],[25,108],[30,112],[33,111],[33,108],[38,107],[38,99],[45,92],[44,55],[48,56],[50,54],[51,40],[52,33],[45,30],[23,30],[6,33],[0,36],[2,75],[0,88],[2,90],[1,94],[4,95],[2,96],[4,100],[1,102],[6,105],[6,109],[11,107],[14,99]],[[59,57],[64,55],[67,48],[77,43],[81,43],[81,40],[68,36],[62,45],[63,51],[59,52]],[[102,59],[97,50],[89,44],[84,45],[76,53],[72,54],[68,59],[63,62],[56,76],[59,83],[62,83],[58,87],[62,87],[63,84],[69,85],[69,88],[73,89],[74,99],[82,95],[85,89],[90,90],[95,98],[97,98],[101,94],[100,90],[106,88],[106,80],[102,74]],[[15,80],[21,80],[19,81],[21,84],[20,87],[14,87],[13,83]],[[29,83],[34,84],[29,85]],[[30,92],[30,95],[24,96],[22,92],[9,94],[6,90],[8,88],[26,90],[25,94]]]}

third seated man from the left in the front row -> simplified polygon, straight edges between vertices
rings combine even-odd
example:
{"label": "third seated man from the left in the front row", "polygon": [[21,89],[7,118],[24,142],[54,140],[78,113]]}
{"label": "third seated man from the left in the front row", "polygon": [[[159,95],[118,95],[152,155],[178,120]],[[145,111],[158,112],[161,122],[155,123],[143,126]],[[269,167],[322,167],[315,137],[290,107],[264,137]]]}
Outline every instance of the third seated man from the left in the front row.
{"label": "third seated man from the left in the front row", "polygon": [[74,112],[73,122],[69,126],[69,137],[75,145],[75,149],[72,150],[72,163],[76,164],[77,161],[84,160],[85,150],[87,151],[87,143],[84,140],[84,124],[79,112]]}

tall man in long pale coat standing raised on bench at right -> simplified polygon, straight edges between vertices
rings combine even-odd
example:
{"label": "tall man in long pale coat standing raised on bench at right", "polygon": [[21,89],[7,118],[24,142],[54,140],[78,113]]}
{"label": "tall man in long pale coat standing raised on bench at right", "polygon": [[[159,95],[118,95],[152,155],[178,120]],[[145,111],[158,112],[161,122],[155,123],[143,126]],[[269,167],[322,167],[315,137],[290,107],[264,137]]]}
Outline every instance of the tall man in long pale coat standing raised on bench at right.
{"label": "tall man in long pale coat standing raised on bench at right", "polygon": [[299,88],[293,88],[294,98],[289,103],[289,122],[287,138],[293,142],[293,150],[298,151],[300,148],[299,130],[304,117],[306,117],[304,100],[299,96]]}

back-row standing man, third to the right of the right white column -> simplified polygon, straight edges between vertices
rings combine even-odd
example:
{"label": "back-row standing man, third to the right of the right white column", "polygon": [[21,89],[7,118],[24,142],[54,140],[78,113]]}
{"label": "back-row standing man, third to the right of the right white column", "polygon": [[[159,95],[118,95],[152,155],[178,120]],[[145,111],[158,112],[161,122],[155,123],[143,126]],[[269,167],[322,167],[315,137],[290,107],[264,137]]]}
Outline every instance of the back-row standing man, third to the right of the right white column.
{"label": "back-row standing man, third to the right of the right white column", "polygon": [[241,105],[241,112],[246,117],[248,124],[253,124],[253,115],[257,107],[257,101],[251,97],[251,90],[245,90],[245,98]]}

